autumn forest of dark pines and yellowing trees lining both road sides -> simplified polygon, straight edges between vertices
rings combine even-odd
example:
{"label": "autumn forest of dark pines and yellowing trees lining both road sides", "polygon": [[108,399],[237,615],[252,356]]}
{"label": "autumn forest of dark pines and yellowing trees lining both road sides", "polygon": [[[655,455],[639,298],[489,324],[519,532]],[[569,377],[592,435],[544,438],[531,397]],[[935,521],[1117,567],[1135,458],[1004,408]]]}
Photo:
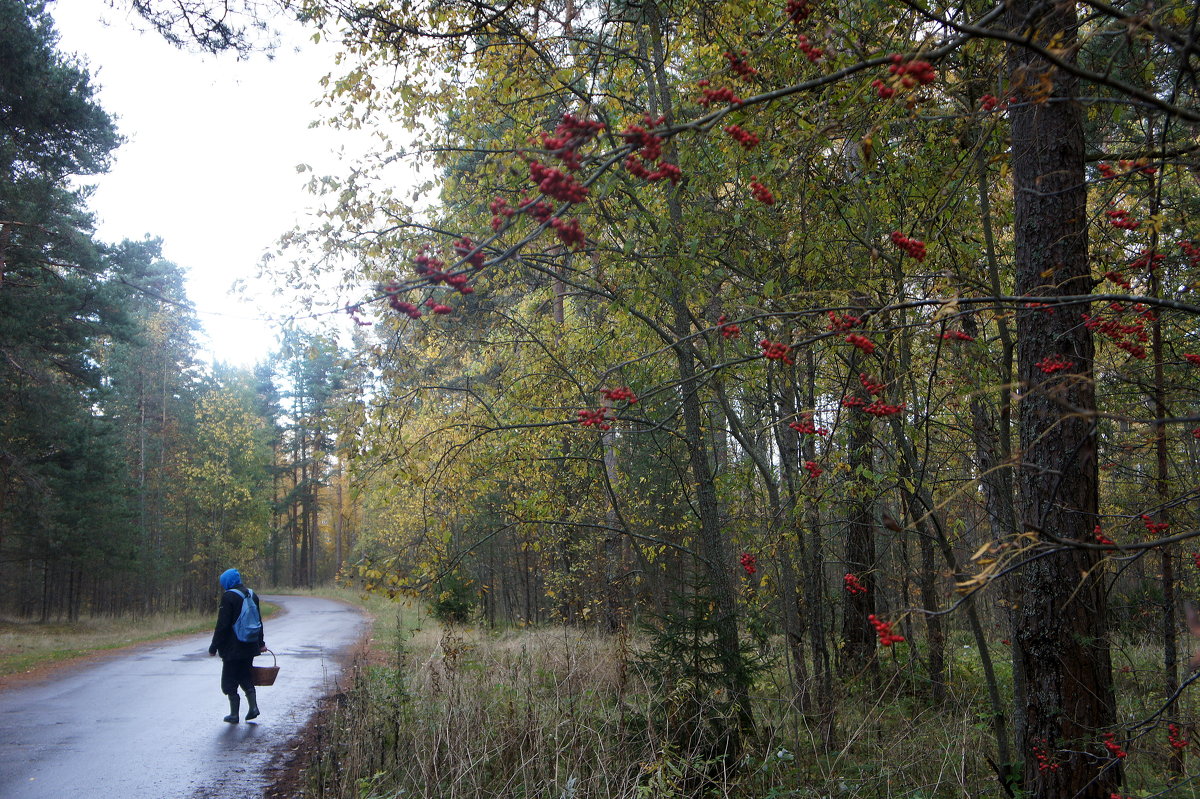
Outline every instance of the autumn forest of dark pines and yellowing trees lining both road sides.
{"label": "autumn forest of dark pines and yellowing trees lining both road sides", "polygon": [[130,6],[374,146],[204,368],[0,2],[6,614],[421,601],[306,795],[1200,793],[1200,5]]}

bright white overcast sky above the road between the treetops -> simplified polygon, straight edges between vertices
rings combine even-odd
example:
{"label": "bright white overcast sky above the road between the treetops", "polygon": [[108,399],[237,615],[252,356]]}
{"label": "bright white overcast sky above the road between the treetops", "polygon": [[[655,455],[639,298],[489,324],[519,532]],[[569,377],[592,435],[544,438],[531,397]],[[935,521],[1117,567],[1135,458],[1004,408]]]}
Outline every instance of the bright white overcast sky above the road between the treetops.
{"label": "bright white overcast sky above the road between the treetops", "polygon": [[178,50],[97,0],[49,11],[59,48],[89,65],[126,138],[91,197],[100,239],[161,238],[163,256],[187,270],[211,358],[262,360],[276,341],[272,307],[228,289],[313,204],[296,164],[336,173],[332,134],[308,127],[332,49],[296,30],[272,60],[238,61]]}

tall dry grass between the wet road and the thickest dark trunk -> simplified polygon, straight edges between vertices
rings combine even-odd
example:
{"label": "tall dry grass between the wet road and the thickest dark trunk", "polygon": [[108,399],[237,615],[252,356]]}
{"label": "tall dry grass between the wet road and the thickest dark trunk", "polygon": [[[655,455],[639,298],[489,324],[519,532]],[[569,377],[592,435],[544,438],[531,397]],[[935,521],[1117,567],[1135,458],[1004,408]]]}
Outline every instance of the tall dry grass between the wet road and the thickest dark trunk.
{"label": "tall dry grass between the wet road and the thickest dark trunk", "polygon": [[[937,711],[904,665],[839,702],[830,751],[770,679],[758,734],[736,763],[680,731],[686,685],[648,681],[631,647],[578,630],[487,635],[425,625],[398,660],[358,669],[328,710],[307,797],[320,799],[671,799],[672,797],[976,797],[996,793],[982,753],[982,693]],[[776,675],[778,677],[778,675]],[[701,737],[703,738],[703,737]],[[710,739],[708,739],[710,741]]]}

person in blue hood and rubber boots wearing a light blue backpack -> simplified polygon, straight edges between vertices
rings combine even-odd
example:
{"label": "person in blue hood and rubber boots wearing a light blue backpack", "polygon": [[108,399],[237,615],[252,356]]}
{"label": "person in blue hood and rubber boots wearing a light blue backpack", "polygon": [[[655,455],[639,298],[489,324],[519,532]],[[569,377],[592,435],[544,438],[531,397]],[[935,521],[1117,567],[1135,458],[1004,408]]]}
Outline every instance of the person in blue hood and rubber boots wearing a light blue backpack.
{"label": "person in blue hood and rubber boots wearing a light blue backpack", "polygon": [[[258,595],[242,585],[241,573],[228,569],[221,573],[220,582],[223,594],[209,655],[221,654],[221,692],[229,697],[229,715],[224,720],[235,725],[240,721],[238,711],[241,705],[238,686],[246,693],[246,721],[258,717],[258,696],[250,667],[254,655],[266,649],[266,642]],[[247,602],[251,605],[247,606]]]}

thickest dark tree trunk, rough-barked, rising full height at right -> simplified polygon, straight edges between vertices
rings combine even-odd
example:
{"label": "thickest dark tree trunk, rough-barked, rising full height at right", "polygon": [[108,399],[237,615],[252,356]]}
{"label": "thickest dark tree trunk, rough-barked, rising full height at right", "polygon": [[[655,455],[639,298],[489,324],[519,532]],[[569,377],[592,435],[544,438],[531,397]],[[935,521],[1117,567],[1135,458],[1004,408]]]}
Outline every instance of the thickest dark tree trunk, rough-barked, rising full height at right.
{"label": "thickest dark tree trunk, rough-barked, rising full height at right", "polygon": [[[1073,4],[1014,0],[1008,26],[1074,58]],[[1020,100],[1012,108],[1016,294],[1085,295],[1091,282],[1078,79],[1020,44],[1009,59]],[[1046,536],[1091,541],[1097,521],[1093,341],[1080,319],[1087,310],[1076,302],[1016,313],[1019,510],[1024,529],[1044,548],[1057,547]],[[1054,362],[1069,368],[1051,371]],[[1116,721],[1116,704],[1099,555],[1069,546],[1031,554],[1040,557],[1021,567],[1014,591],[1014,657],[1026,678],[1018,729],[1022,787],[1039,799],[1109,799],[1121,773],[1100,744]],[[1097,763],[1109,768],[1098,770]]]}

